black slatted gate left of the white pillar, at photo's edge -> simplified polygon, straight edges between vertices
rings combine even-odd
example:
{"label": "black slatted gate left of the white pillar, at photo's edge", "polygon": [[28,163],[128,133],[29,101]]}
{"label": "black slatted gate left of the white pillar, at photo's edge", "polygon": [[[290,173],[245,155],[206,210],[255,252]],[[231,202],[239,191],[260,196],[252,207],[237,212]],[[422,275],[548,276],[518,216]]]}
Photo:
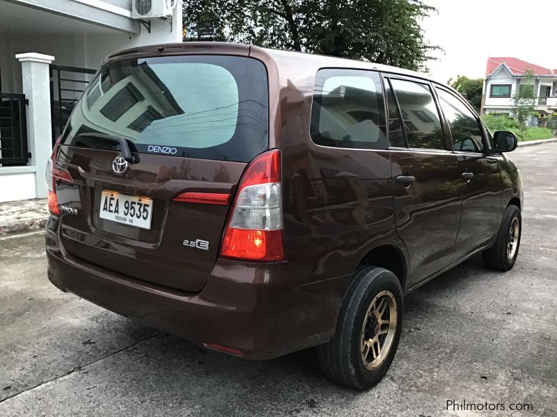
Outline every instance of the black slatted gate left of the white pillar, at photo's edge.
{"label": "black slatted gate left of the white pillar, at photo's edge", "polygon": [[0,92],[0,165],[27,165],[27,100],[22,94]]}

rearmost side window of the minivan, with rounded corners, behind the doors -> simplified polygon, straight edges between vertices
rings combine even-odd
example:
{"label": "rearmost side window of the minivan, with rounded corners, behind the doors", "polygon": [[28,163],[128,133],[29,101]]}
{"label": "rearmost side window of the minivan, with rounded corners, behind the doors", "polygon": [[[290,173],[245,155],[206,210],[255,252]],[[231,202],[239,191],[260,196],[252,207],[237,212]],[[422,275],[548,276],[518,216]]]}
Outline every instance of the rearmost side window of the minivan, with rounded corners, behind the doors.
{"label": "rearmost side window of the minivan, with rounded corners, behind the doors", "polygon": [[310,133],[317,145],[386,149],[379,74],[361,70],[317,72]]}

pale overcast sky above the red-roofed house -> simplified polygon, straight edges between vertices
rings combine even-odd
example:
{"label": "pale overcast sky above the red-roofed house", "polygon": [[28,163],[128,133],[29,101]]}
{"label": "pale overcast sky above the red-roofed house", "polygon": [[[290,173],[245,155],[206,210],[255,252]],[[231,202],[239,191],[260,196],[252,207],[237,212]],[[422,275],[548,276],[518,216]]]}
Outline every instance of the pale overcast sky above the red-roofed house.
{"label": "pale overcast sky above the red-roofed house", "polygon": [[445,50],[426,63],[435,79],[483,77],[488,56],[557,68],[557,0],[423,1],[439,10],[421,23],[428,43]]}

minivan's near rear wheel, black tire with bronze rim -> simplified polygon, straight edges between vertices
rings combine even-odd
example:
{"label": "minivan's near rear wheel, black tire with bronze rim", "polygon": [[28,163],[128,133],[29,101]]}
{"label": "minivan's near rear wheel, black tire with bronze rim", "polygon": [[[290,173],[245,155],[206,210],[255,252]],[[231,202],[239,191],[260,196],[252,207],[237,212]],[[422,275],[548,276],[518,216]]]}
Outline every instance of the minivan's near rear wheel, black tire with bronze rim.
{"label": "minivan's near rear wheel, black tire with bronze rim", "polygon": [[317,346],[325,375],[350,389],[367,390],[377,384],[395,357],[402,310],[402,288],[393,272],[372,266],[357,270],[333,338]]}

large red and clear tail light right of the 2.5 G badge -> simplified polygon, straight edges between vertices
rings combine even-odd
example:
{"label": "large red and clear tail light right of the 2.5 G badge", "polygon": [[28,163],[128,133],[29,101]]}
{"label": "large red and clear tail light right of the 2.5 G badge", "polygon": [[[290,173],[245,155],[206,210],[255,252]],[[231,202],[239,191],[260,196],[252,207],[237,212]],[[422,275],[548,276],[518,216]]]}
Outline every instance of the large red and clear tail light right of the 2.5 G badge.
{"label": "large red and clear tail light right of the 2.5 G badge", "polygon": [[224,258],[283,261],[281,152],[257,156],[238,186],[221,245]]}

